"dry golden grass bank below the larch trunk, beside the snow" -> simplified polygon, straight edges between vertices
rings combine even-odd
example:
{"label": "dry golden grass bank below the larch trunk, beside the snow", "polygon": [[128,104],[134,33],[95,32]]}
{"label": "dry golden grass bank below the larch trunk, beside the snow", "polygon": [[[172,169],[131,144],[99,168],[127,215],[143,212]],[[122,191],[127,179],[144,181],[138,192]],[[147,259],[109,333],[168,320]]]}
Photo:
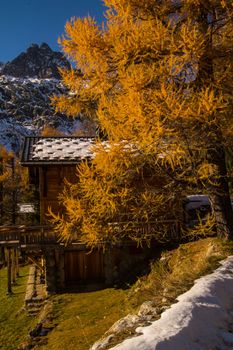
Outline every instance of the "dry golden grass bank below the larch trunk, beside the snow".
{"label": "dry golden grass bank below the larch trunk, beside the snow", "polygon": [[230,243],[206,238],[164,251],[162,258],[151,265],[149,275],[138,279],[131,288],[131,306],[137,308],[145,300],[154,300],[158,307],[170,305],[195,279],[217,268],[220,260],[232,254],[232,248]]}

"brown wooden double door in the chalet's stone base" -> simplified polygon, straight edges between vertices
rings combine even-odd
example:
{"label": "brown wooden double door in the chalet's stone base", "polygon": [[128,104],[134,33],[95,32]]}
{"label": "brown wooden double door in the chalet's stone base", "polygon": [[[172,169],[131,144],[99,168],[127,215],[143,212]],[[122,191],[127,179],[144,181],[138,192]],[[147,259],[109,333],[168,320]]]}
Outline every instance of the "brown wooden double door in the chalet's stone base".
{"label": "brown wooden double door in the chalet's stone base", "polygon": [[95,250],[65,252],[65,278],[67,284],[89,284],[104,281],[103,253]]}

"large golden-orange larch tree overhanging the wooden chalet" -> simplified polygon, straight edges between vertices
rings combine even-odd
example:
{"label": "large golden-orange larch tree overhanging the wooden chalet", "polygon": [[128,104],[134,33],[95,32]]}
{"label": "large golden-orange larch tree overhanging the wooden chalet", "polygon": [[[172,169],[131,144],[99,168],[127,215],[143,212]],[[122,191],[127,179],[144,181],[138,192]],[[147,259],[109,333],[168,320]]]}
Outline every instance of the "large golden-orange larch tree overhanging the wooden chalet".
{"label": "large golden-orange larch tree overhanging the wooden chalet", "polygon": [[71,93],[54,104],[99,124],[108,145],[96,146],[80,182],[67,187],[58,230],[69,237],[78,229],[91,245],[115,240],[114,219],[174,218],[177,198],[206,193],[218,235],[231,238],[232,1],[105,5],[106,24],[72,19],[60,41],[78,69],[62,71]]}

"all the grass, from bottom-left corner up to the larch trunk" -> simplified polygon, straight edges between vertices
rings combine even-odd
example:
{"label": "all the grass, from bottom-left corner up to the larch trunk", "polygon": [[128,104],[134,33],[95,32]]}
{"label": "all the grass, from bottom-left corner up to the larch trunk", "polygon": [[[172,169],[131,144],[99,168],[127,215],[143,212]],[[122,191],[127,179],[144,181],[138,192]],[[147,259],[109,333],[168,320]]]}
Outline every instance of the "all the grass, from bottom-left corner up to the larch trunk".
{"label": "all the grass, from bottom-left corner up to the larch trunk", "polygon": [[[207,274],[218,261],[232,254],[232,245],[215,238],[181,245],[162,254],[151,264],[151,272],[128,289],[108,288],[88,293],[70,293],[50,298],[49,319],[56,327],[40,350],[87,350],[119,318],[137,312],[141,303],[154,300],[158,308],[169,306],[189,289],[193,281]],[[0,271],[0,349],[16,350],[38,319],[22,310],[28,268],[21,269],[12,296],[6,295],[6,270]],[[116,342],[129,334],[119,335]],[[45,339],[44,339],[45,340]],[[113,344],[111,344],[112,346]]]}

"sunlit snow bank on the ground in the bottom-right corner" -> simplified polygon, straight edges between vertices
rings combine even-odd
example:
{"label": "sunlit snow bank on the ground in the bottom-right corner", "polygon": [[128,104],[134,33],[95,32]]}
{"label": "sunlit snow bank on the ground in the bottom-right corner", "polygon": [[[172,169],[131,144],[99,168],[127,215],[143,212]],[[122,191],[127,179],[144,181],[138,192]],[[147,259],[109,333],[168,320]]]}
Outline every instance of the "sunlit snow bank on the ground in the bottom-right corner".
{"label": "sunlit snow bank on the ground in the bottom-right corner", "polygon": [[198,279],[178,302],[148,327],[111,350],[233,349],[233,256]]}

